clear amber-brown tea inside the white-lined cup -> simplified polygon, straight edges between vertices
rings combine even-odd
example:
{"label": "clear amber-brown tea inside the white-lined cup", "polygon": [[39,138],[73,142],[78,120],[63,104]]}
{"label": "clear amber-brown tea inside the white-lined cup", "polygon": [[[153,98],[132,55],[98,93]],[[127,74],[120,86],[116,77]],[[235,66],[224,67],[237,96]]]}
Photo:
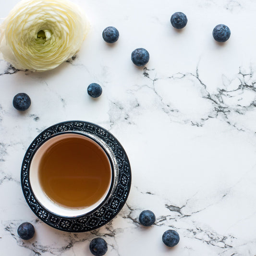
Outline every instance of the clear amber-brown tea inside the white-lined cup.
{"label": "clear amber-brown tea inside the white-lined cup", "polygon": [[66,135],[56,136],[57,142],[43,153],[39,163],[40,185],[52,201],[63,207],[92,206],[110,187],[110,160],[92,139]]}

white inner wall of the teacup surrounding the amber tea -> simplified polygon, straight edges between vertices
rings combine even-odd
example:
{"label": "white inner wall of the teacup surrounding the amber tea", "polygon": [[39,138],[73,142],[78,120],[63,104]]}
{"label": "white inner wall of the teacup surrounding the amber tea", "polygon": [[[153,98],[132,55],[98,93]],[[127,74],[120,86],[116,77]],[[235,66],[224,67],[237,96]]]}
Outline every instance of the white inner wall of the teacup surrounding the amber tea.
{"label": "white inner wall of the teacup surrounding the amber tea", "polygon": [[[53,201],[43,190],[42,184],[40,183],[40,163],[42,161],[43,156],[45,155],[48,150],[56,145],[58,142],[60,142],[63,139],[67,138],[81,138],[84,140],[89,140],[90,143],[95,144],[104,154],[108,156],[109,159],[109,169],[110,169],[110,180],[107,186],[107,189],[104,193],[104,195],[93,205],[86,206],[86,207],[65,207],[63,205],[60,205]],[[46,140],[43,144],[38,146],[37,150],[35,151],[34,155],[32,156],[32,160],[30,162],[29,166],[29,183],[31,186],[31,189],[37,198],[38,202],[48,209],[50,212],[59,215],[61,217],[76,217],[80,215],[85,215],[87,213],[90,213],[93,210],[96,210],[98,207],[100,207],[106,199],[109,197],[111,188],[113,186],[113,163],[111,163],[111,158],[108,155],[107,151],[104,148],[104,144],[100,143],[100,140],[94,140],[92,137],[90,137],[89,134],[79,134],[79,133],[72,133],[72,132],[64,132],[63,134],[57,134],[51,136],[48,140]]]}

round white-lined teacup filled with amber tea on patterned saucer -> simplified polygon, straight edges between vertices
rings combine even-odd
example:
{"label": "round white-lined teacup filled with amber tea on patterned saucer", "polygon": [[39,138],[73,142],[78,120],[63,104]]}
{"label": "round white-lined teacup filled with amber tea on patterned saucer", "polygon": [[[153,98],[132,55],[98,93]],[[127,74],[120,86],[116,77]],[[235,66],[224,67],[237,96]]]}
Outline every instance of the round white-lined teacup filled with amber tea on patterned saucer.
{"label": "round white-lined teacup filled with amber tea on patterned saucer", "polygon": [[[90,177],[91,180],[88,181],[86,178],[86,175],[81,174],[81,170],[80,172],[77,172],[77,170],[72,169],[72,165],[71,165],[72,159],[68,159],[68,156],[73,154],[73,158],[74,158],[74,156],[76,155],[74,155],[75,153],[73,151],[75,150],[73,151],[71,150],[72,148],[75,149],[76,147],[75,145],[81,146],[82,142],[85,144],[85,146],[87,144],[91,146],[90,148],[92,148],[92,152],[91,150],[88,151],[91,154],[90,155],[91,158],[95,156],[94,154],[99,154],[100,156],[103,156],[105,154],[104,156],[108,161],[106,171],[110,171],[110,175],[108,176],[109,178],[107,182],[104,183],[105,187],[103,188],[103,192],[101,191],[101,194],[98,194],[99,198],[97,199],[97,201],[93,202],[91,205],[86,205],[86,206],[79,205],[79,204],[75,206],[69,206],[69,205],[65,205],[65,203],[62,203],[64,198],[61,198],[61,191],[59,190],[63,191],[62,192],[63,197],[64,197],[64,194],[65,194],[65,197],[69,197],[69,194],[72,194],[72,193],[68,193],[66,190],[69,189],[69,191],[72,192],[71,190],[72,186],[74,190],[77,190],[77,189],[83,190],[83,186],[81,186],[81,184],[83,184],[83,180],[85,180],[85,185],[86,184],[87,186],[91,185],[90,191],[92,191],[91,194],[88,192],[87,195],[84,195],[85,201],[87,200],[86,199],[87,197],[89,198],[89,196],[91,197],[95,195],[93,193],[96,193],[97,191],[99,191],[100,188],[102,190],[101,186],[103,182],[100,183],[98,181],[100,180],[101,177],[98,177],[97,176],[98,174],[95,174],[95,175],[92,174],[94,173],[93,170],[90,170],[90,175],[94,175],[94,176]],[[70,143],[66,145],[65,151],[67,150],[67,152],[65,153],[65,151],[63,151],[64,152],[63,156],[58,155],[60,154],[60,152],[62,152],[60,151],[61,150],[60,148],[64,145],[64,143]],[[95,151],[94,151],[94,147],[95,147]],[[79,152],[77,152],[77,154],[78,153]],[[67,170],[65,169],[63,171],[63,175],[61,174],[58,176],[57,175],[58,173],[57,174],[55,173],[55,169],[58,169],[58,168],[54,168],[54,166],[51,166],[51,161],[53,161],[52,162],[53,165],[56,164],[54,162],[54,159],[55,159],[54,156],[58,156],[58,158],[60,158],[57,160],[63,166],[62,167],[63,169],[65,169],[65,162],[67,163],[66,165],[68,165],[68,167],[66,168]],[[90,161],[90,157],[86,156],[87,157],[86,159],[82,159],[84,157],[85,156],[81,154],[79,159],[81,158],[81,161],[83,160],[84,163],[86,164],[87,162]],[[101,161],[101,158],[97,158],[97,159],[99,159],[98,161]],[[80,166],[82,165],[83,161],[80,163]],[[97,165],[98,163],[90,163],[89,165],[90,168],[93,168],[94,164]],[[49,171],[47,168],[52,168],[52,169],[51,171]],[[47,174],[46,175],[44,173],[42,174],[42,170],[45,171],[45,173]],[[74,174],[74,172],[76,174]],[[81,175],[81,179],[79,178],[80,177],[79,175]],[[29,166],[28,166],[28,182],[30,184],[32,194],[34,194],[37,201],[41,204],[42,207],[47,209],[50,213],[60,216],[62,218],[73,218],[73,217],[82,216],[82,215],[89,215],[93,212],[96,212],[102,205],[104,205],[109,200],[109,198],[113,194],[117,186],[118,176],[119,176],[118,164],[110,146],[108,146],[100,137],[84,131],[63,131],[58,134],[52,134],[47,139],[45,139],[39,146],[37,146],[36,150],[33,152],[31,156]],[[73,179],[75,180],[76,183],[79,183],[79,184],[81,183],[79,188],[78,188],[78,185],[77,187],[75,186],[76,183],[73,182]],[[44,180],[46,180],[45,186],[44,186]],[[73,182],[71,187],[69,187],[70,184],[67,183],[68,180],[70,181],[70,183]],[[100,183],[97,186],[96,192],[93,190],[94,186],[90,184],[91,182],[92,183],[95,182],[97,184]],[[66,184],[66,188],[64,188],[61,185],[62,183]],[[46,187],[48,185],[49,185],[49,191],[46,191]],[[85,191],[86,191],[86,188],[85,188]],[[52,192],[52,195],[51,195],[51,192]],[[77,193],[79,193],[79,191]],[[56,195],[55,198],[54,198],[54,195]],[[58,201],[58,199],[60,200]],[[64,200],[64,202],[69,202],[69,204],[73,205],[73,203],[75,203],[76,201],[75,199],[76,198],[73,198],[72,200],[69,197],[68,199],[69,201]]]}

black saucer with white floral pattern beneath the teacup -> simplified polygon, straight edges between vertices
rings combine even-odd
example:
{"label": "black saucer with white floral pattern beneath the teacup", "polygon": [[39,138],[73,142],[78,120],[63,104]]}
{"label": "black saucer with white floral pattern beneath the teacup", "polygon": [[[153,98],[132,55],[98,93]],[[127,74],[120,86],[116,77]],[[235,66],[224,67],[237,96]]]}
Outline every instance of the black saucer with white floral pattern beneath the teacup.
{"label": "black saucer with white floral pattern beneath the teacup", "polygon": [[[118,163],[119,177],[117,187],[110,199],[96,212],[77,217],[61,217],[53,214],[44,208],[38,201],[31,185],[28,182],[28,167],[33,156],[33,152],[41,143],[53,134],[64,131],[83,131],[100,137],[112,149]],[[86,232],[100,228],[113,219],[124,206],[130,192],[132,181],[131,166],[128,157],[120,142],[106,129],[90,122],[67,121],[52,125],[41,132],[28,147],[21,169],[21,185],[24,197],[28,206],[39,219],[49,226],[66,232]]]}

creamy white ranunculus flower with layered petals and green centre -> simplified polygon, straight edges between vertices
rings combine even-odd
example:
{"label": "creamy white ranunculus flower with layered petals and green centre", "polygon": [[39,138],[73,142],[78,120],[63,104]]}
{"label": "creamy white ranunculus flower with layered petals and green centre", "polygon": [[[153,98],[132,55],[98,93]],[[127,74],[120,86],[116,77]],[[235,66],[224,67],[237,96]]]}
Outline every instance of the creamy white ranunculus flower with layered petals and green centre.
{"label": "creamy white ranunculus flower with layered petals and green centre", "polygon": [[68,0],[22,0],[0,24],[0,52],[16,69],[50,70],[80,49],[88,27]]}

